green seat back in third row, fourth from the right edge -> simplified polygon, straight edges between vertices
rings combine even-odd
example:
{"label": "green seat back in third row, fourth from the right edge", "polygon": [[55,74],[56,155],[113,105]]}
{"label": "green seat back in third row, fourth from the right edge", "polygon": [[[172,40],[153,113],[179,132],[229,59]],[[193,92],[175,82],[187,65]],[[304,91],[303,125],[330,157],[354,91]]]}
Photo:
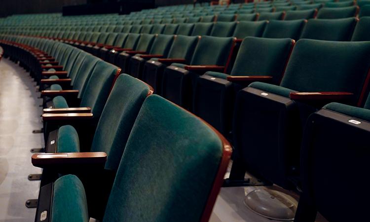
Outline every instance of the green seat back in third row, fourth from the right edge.
{"label": "green seat back in third row, fourth from the right edge", "polygon": [[267,21],[248,22],[242,21],[237,22],[233,37],[242,39],[248,36],[261,37],[263,30],[265,29]]}

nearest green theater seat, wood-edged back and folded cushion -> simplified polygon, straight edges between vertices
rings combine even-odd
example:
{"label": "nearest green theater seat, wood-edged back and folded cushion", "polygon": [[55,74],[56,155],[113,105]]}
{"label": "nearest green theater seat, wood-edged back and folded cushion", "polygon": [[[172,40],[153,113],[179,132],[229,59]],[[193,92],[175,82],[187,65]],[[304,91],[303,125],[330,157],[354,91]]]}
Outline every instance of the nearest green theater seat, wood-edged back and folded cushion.
{"label": "nearest green theater seat, wood-edged back and folded cushion", "polygon": [[[149,135],[148,129],[153,129]],[[149,96],[128,138],[103,221],[208,221],[230,154],[228,142],[202,120]],[[39,197],[37,219],[48,212],[46,219],[55,222],[74,220],[70,216],[75,214],[89,220],[88,197],[75,176],[41,187]]]}

